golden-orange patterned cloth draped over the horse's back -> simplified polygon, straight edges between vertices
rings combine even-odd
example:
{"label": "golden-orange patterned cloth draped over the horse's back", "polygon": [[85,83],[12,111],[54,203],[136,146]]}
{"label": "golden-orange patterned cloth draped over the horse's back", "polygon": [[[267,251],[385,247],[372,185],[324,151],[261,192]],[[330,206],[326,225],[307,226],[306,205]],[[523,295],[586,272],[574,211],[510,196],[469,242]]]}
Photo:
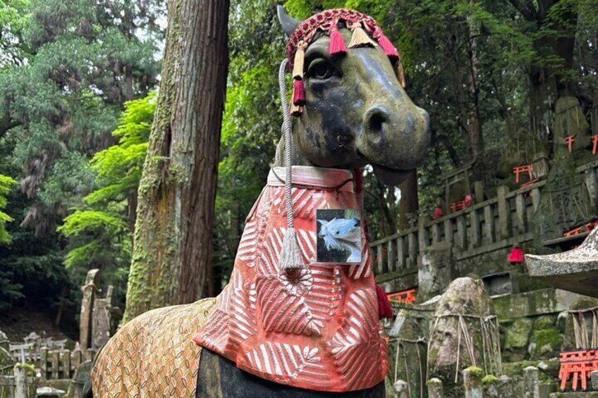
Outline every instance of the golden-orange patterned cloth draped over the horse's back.
{"label": "golden-orange patterned cloth draped over the horse's back", "polygon": [[95,398],[195,398],[201,347],[192,340],[215,299],[148,311],[126,323],[99,353]]}

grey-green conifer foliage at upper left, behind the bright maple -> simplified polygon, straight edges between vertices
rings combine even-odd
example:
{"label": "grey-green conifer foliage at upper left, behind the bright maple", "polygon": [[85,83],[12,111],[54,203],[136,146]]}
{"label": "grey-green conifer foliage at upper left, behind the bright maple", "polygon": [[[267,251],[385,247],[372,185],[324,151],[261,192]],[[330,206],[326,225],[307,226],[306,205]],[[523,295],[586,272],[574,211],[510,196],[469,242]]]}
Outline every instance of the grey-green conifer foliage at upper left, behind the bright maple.
{"label": "grey-green conifer foliage at upper left, behind the bright maple", "polygon": [[87,165],[113,142],[123,102],[153,88],[159,4],[25,4],[28,23],[20,32],[27,62],[0,70],[0,137],[15,137],[11,158],[23,168],[23,191],[34,199],[24,221],[38,234],[49,235],[56,218],[92,189]]}

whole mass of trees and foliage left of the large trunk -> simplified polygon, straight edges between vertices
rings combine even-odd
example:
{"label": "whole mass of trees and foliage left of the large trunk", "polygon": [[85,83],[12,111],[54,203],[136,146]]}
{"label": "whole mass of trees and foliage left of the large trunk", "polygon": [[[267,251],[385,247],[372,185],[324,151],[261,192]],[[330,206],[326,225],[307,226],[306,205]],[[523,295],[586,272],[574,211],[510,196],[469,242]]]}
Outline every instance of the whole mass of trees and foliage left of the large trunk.
{"label": "whole mass of trees and foliage left of the large trunk", "polygon": [[152,100],[119,117],[157,84],[163,15],[163,0],[0,1],[0,173],[21,188],[0,306],[74,303],[90,267],[123,299]]}

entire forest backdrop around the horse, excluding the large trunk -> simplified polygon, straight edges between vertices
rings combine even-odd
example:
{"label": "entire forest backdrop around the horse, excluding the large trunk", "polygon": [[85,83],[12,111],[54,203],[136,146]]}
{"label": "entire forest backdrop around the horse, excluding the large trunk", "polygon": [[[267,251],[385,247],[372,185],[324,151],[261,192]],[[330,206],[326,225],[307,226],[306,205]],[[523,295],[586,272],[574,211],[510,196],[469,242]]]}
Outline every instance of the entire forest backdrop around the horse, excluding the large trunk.
{"label": "entire forest backdrop around the horse, excluding the large trunk", "polygon": [[[417,175],[384,187],[364,170],[372,240],[432,213],[442,173],[469,162],[489,173],[487,159],[508,156],[521,130],[549,143],[559,97],[577,97],[585,115],[598,101],[595,0],[232,0],[202,296],[226,285],[280,137],[277,4],[298,19],[338,7],[372,15],[430,113]],[[0,329],[37,317],[75,337],[90,268],[124,308],[165,30],[162,0],[0,0]]]}

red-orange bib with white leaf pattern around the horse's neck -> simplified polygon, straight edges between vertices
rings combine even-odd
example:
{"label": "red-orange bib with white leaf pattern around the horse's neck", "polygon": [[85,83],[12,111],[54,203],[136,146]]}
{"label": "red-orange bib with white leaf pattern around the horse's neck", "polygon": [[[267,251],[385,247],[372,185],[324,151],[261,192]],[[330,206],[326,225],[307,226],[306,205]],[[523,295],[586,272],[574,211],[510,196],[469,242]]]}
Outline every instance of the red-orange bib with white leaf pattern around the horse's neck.
{"label": "red-orange bib with white leaf pattern around the horse's neck", "polygon": [[248,216],[231,281],[195,341],[276,383],[331,392],[377,385],[389,363],[363,232],[360,263],[316,262],[317,209],[361,213],[353,175],[293,166],[295,230],[306,264],[293,277],[278,264],[286,231],[283,176],[283,168],[271,171]]}

